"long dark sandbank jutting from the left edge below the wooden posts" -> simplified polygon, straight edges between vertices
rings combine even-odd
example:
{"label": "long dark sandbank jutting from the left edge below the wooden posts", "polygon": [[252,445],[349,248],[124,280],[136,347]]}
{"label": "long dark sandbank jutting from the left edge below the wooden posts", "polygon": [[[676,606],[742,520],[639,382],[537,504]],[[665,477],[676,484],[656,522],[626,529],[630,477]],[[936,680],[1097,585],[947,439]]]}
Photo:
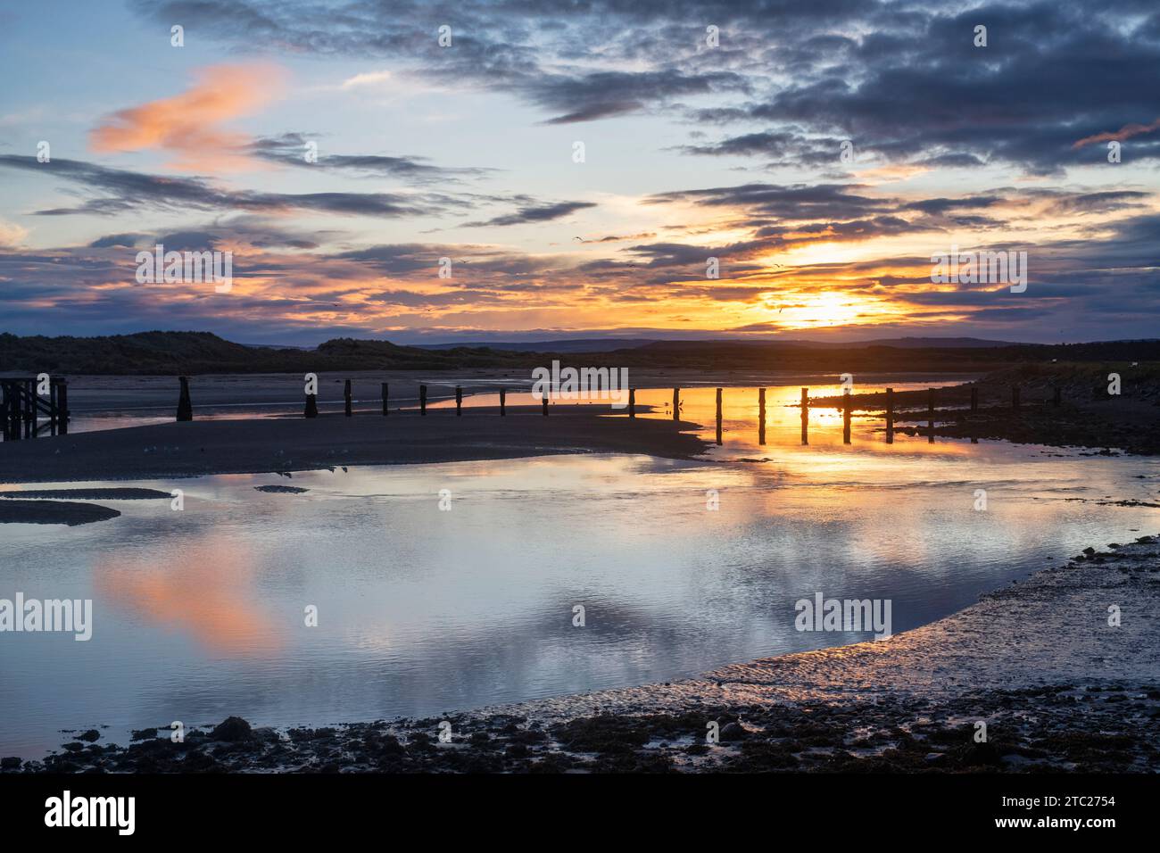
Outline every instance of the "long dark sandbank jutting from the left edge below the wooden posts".
{"label": "long dark sandbank jutting from the left edge below the wooden posts", "polygon": [[[643,407],[641,407],[643,409]],[[693,424],[609,415],[594,406],[392,412],[390,417],[203,420],[0,443],[6,483],[269,474],[332,465],[465,462],[574,453],[690,458]]]}

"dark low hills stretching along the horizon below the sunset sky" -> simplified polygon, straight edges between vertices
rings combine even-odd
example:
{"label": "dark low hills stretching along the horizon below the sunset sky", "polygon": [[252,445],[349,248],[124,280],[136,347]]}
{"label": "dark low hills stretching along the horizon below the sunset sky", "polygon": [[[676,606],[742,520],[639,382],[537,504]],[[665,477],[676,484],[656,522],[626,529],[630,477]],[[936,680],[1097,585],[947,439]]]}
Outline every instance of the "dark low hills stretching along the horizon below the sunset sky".
{"label": "dark low hills stretching along the horizon below the sunset sky", "polygon": [[[531,369],[559,359],[574,367],[746,371],[987,371],[1021,363],[1160,361],[1160,340],[1096,344],[972,344],[974,339],[819,346],[804,341],[652,341],[600,353],[399,346],[336,338],[316,349],[245,346],[209,332],[139,332],[101,338],[0,334],[0,374],[229,374],[321,370]],[[966,341],[966,342],[964,342]],[[550,342],[545,342],[550,345]]]}

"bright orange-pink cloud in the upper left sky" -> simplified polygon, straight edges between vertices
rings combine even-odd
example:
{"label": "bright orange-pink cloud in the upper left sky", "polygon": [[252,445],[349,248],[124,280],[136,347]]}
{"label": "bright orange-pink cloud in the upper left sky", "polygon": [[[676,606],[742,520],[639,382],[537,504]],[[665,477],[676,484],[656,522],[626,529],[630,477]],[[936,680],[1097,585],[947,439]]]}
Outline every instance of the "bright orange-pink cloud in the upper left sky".
{"label": "bright orange-pink cloud in the upper left sky", "polygon": [[213,65],[180,95],[114,113],[89,133],[89,146],[100,153],[160,149],[175,156],[169,165],[179,169],[253,168],[245,153],[248,137],[219,125],[263,107],[284,82],[275,65]]}

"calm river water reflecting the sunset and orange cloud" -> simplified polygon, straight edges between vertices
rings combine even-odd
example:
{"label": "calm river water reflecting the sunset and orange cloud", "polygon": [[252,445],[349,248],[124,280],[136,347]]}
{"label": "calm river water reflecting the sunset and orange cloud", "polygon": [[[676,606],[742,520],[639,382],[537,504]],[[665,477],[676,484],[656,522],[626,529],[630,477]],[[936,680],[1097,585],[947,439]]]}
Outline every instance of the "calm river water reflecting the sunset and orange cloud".
{"label": "calm river water reflecting the sunset and orange cloud", "polygon": [[[682,391],[683,417],[710,436],[713,393]],[[889,598],[900,631],[1049,559],[1157,532],[1155,509],[1090,503],[1155,503],[1155,461],[886,444],[869,419],[843,446],[840,414],[820,410],[802,447],[786,407],[798,393],[769,390],[762,447],[755,389],[726,389],[712,461],[579,455],[59,484],[181,487],[184,511],[104,501],[123,515],[0,528],[0,598],[90,598],[95,623],[87,643],[0,635],[0,754],[42,756],[67,739],[61,729],[108,725],[104,739],[123,744],[130,729],[176,720],[319,725],[666,681],[868,638],[797,632],[793,603],[815,591]],[[658,404],[650,417],[670,400],[638,392]],[[986,512],[973,508],[978,489]]]}

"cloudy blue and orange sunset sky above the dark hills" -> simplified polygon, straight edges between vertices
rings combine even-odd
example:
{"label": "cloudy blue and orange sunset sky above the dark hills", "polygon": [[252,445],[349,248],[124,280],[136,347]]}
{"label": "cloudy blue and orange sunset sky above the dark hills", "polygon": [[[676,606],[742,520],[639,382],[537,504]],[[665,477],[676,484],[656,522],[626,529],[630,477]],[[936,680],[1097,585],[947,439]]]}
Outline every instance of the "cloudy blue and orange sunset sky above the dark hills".
{"label": "cloudy blue and orange sunset sky above the dark hills", "polygon": [[38,0],[0,74],[0,332],[1160,337],[1155,0]]}

